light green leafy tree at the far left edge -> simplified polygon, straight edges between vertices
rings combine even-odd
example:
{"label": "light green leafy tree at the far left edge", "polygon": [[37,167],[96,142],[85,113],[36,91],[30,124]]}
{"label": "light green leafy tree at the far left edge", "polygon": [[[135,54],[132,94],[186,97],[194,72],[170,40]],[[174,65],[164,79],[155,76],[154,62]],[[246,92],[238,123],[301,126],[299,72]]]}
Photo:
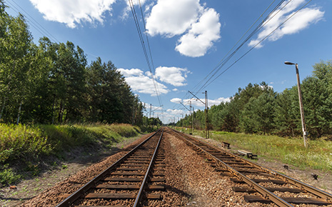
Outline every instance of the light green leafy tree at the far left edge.
{"label": "light green leafy tree at the far left edge", "polygon": [[[2,2],[1,2],[2,4]],[[34,79],[34,70],[31,59],[34,56],[34,44],[28,30],[24,16],[17,17],[6,15],[4,5],[1,5],[0,39],[0,93],[1,93],[1,118],[6,106],[6,120],[14,121],[21,116],[21,107],[31,96],[31,80]]]}

